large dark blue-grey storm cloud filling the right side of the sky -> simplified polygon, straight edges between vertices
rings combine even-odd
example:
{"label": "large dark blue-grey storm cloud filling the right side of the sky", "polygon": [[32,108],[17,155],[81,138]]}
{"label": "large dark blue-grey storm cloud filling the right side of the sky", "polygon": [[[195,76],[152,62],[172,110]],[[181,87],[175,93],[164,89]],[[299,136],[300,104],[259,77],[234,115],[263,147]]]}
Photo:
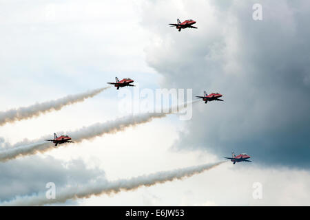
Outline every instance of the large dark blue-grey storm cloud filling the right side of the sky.
{"label": "large dark blue-grey storm cloud filling the right side of the sky", "polygon": [[[262,21],[252,19],[254,3]],[[145,48],[147,63],[165,87],[193,88],[196,96],[218,91],[225,100],[196,105],[174,147],[309,168],[309,1],[182,1],[159,13],[163,4],[142,12],[156,42]],[[194,19],[198,29],[152,23],[178,17]]]}

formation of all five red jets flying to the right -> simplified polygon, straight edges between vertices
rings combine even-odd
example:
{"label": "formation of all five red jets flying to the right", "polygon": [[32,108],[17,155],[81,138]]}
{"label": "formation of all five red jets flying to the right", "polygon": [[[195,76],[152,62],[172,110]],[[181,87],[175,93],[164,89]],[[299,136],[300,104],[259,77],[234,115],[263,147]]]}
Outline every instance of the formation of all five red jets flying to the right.
{"label": "formation of all five red jets flying to the right", "polygon": [[[176,29],[178,29],[179,32],[185,28],[196,28],[193,26],[196,23],[196,21],[192,19],[187,19],[183,22],[180,22],[180,19],[177,19],[176,21],[177,23],[170,23],[169,25],[171,25],[171,27],[176,27]],[[116,89],[119,89],[120,87],[134,87],[135,85],[132,85],[132,83],[134,83],[134,80],[132,80],[131,78],[123,78],[123,80],[118,80],[118,78],[115,77],[115,83],[108,83],[108,84],[114,85]],[[222,101],[223,102],[224,100],[220,99],[222,96],[223,95],[219,93],[211,93],[208,95],[207,92],[204,91],[203,96],[196,96],[196,97],[201,98],[205,102],[205,104],[207,104],[207,102],[211,102],[211,101]],[[54,139],[46,140],[46,141],[53,142],[55,146],[57,146],[58,144],[72,142],[71,137],[69,137],[68,135],[61,135],[60,137],[57,137],[56,133],[54,133]],[[236,164],[236,162],[237,163],[238,162],[251,162],[250,160],[248,160],[250,156],[247,155],[246,153],[241,153],[240,155],[236,156],[233,152],[232,157],[224,157],[224,158],[230,159],[231,162],[234,162],[234,164]]]}

